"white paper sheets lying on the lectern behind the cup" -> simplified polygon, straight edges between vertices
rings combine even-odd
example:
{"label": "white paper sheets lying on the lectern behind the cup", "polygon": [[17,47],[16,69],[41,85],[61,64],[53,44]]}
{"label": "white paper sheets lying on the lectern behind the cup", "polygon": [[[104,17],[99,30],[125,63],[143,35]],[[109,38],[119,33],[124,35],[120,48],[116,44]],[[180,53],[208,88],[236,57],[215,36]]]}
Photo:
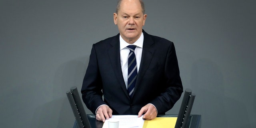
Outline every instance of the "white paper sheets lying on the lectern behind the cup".
{"label": "white paper sheets lying on the lectern behind the cup", "polygon": [[[112,118],[119,120],[119,128],[142,128],[144,124],[143,115],[139,118],[138,115],[112,115]],[[108,120],[104,122],[102,128],[108,128]]]}

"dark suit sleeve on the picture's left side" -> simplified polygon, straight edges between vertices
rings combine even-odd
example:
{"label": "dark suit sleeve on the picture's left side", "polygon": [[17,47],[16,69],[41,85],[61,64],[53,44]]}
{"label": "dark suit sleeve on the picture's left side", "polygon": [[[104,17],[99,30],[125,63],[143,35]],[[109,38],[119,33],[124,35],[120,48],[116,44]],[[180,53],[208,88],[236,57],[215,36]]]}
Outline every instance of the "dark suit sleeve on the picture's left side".
{"label": "dark suit sleeve on the picture's left side", "polygon": [[98,68],[95,44],[92,46],[89,64],[82,84],[82,99],[87,108],[95,113],[98,106],[106,104],[102,100],[102,80]]}

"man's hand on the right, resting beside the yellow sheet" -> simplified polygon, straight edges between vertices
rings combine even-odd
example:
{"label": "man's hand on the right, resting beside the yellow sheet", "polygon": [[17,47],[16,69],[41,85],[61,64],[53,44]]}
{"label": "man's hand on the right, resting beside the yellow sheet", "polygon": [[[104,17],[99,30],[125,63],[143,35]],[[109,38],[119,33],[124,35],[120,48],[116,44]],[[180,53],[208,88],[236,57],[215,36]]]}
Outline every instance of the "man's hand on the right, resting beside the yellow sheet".
{"label": "man's hand on the right, resting beside the yellow sheet", "polygon": [[145,113],[143,116],[145,120],[153,120],[157,116],[156,108],[152,104],[147,104],[146,106],[142,107],[138,117],[142,116],[143,113]]}

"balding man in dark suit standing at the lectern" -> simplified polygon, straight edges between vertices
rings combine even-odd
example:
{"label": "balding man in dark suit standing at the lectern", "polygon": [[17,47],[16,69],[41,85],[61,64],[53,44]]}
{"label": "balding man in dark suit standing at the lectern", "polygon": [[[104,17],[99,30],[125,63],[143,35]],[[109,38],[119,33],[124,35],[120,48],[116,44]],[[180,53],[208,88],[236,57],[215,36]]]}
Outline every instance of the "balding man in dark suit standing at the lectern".
{"label": "balding man in dark suit standing at the lectern", "polygon": [[174,44],[142,30],[144,11],[142,0],[119,0],[114,24],[120,33],[92,46],[81,92],[97,120],[112,114],[152,120],[183,92]]}

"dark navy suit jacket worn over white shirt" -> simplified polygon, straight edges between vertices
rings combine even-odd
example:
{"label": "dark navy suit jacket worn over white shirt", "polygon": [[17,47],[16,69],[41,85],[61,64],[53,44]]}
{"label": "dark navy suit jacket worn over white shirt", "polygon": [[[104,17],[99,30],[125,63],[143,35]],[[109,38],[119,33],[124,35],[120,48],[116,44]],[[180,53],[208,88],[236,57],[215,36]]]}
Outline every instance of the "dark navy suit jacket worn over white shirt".
{"label": "dark navy suit jacket worn over white shirt", "polygon": [[122,76],[120,34],[93,44],[81,90],[82,99],[92,113],[107,104],[113,115],[137,115],[151,103],[158,114],[165,114],[180,98],[183,87],[173,42],[144,30],[143,34],[140,69],[131,99]]}

